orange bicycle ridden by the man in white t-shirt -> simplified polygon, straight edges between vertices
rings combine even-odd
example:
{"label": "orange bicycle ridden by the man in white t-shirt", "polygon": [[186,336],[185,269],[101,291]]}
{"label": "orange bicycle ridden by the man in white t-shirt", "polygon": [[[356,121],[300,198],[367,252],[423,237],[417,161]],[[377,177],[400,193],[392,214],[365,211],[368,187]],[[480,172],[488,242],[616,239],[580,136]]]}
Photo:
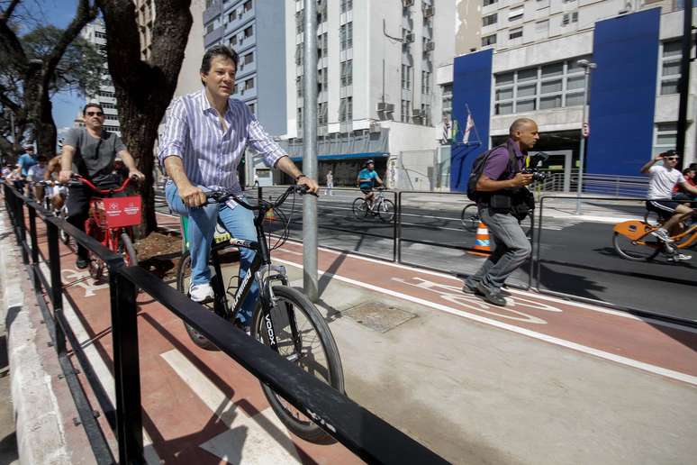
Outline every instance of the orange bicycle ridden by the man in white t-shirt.
{"label": "orange bicycle ridden by the man in white t-shirt", "polygon": [[683,232],[671,236],[674,241],[666,244],[658,240],[651,232],[656,231],[661,223],[649,223],[645,221],[629,220],[615,224],[612,228],[612,245],[615,251],[627,260],[643,261],[653,260],[661,251],[668,254],[688,249],[697,245],[697,215],[692,214],[692,224],[683,228]]}

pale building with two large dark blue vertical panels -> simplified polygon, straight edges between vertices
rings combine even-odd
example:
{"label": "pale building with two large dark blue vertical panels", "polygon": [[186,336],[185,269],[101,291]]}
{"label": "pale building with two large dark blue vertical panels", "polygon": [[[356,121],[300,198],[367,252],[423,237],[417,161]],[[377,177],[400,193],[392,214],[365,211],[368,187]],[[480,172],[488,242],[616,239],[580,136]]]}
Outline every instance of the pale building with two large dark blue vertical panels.
{"label": "pale building with two large dark blue vertical panels", "polygon": [[[639,176],[658,152],[674,148],[677,82],[680,78],[683,12],[672,1],[602,0],[460,1],[458,56],[439,68],[437,84],[448,95],[455,139],[461,142],[467,117],[475,131],[453,146],[451,187],[466,188],[475,153],[505,141],[518,117],[539,124],[536,150],[550,155],[545,168],[558,173],[566,190],[580,166],[584,114],[584,67],[590,74],[584,153],[587,174]],[[466,20],[466,21],[465,21]],[[691,68],[690,101],[695,94]],[[695,156],[697,117],[688,115],[685,162]],[[448,117],[449,114],[444,114]]]}

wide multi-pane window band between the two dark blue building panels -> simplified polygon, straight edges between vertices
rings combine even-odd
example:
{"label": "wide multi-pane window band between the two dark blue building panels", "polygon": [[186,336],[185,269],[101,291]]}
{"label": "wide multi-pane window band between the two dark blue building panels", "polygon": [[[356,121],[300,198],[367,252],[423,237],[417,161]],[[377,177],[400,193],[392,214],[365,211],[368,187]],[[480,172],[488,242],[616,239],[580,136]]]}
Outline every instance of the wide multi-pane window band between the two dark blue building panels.
{"label": "wide multi-pane window band between the two dark blue building panels", "polygon": [[581,58],[496,75],[494,114],[583,105],[584,69],[576,63]]}

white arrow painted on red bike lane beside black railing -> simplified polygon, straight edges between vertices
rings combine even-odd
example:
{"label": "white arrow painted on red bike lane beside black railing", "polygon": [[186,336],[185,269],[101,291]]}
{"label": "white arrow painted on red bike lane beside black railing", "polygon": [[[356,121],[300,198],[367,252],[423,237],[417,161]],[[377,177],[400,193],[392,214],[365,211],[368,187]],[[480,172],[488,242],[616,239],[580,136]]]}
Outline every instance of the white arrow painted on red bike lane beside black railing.
{"label": "white arrow painted on red bike lane beside black railing", "polygon": [[[300,463],[285,426],[271,407],[249,417],[206,378],[204,373],[173,349],[161,353],[177,375],[204,404],[230,428],[199,447],[230,463]],[[245,447],[245,444],[247,447]]]}

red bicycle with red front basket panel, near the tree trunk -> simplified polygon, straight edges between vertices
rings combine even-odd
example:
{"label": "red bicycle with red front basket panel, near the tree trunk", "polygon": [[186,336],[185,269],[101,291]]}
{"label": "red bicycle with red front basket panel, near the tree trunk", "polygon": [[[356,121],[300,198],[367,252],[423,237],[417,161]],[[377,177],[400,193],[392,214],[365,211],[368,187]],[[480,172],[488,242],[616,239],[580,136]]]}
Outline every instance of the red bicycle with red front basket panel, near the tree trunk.
{"label": "red bicycle with red front basket panel, near the tree trunk", "polygon": [[[126,178],[121,187],[113,189],[100,189],[81,176],[75,176],[74,179],[100,195],[92,197],[89,201],[89,217],[85,222],[86,234],[102,242],[110,251],[122,255],[126,266],[138,265],[133,247],[133,226],[140,224],[140,196],[113,196],[126,190],[131,178]],[[90,276],[95,280],[104,278],[105,268],[104,260],[90,251]]]}

